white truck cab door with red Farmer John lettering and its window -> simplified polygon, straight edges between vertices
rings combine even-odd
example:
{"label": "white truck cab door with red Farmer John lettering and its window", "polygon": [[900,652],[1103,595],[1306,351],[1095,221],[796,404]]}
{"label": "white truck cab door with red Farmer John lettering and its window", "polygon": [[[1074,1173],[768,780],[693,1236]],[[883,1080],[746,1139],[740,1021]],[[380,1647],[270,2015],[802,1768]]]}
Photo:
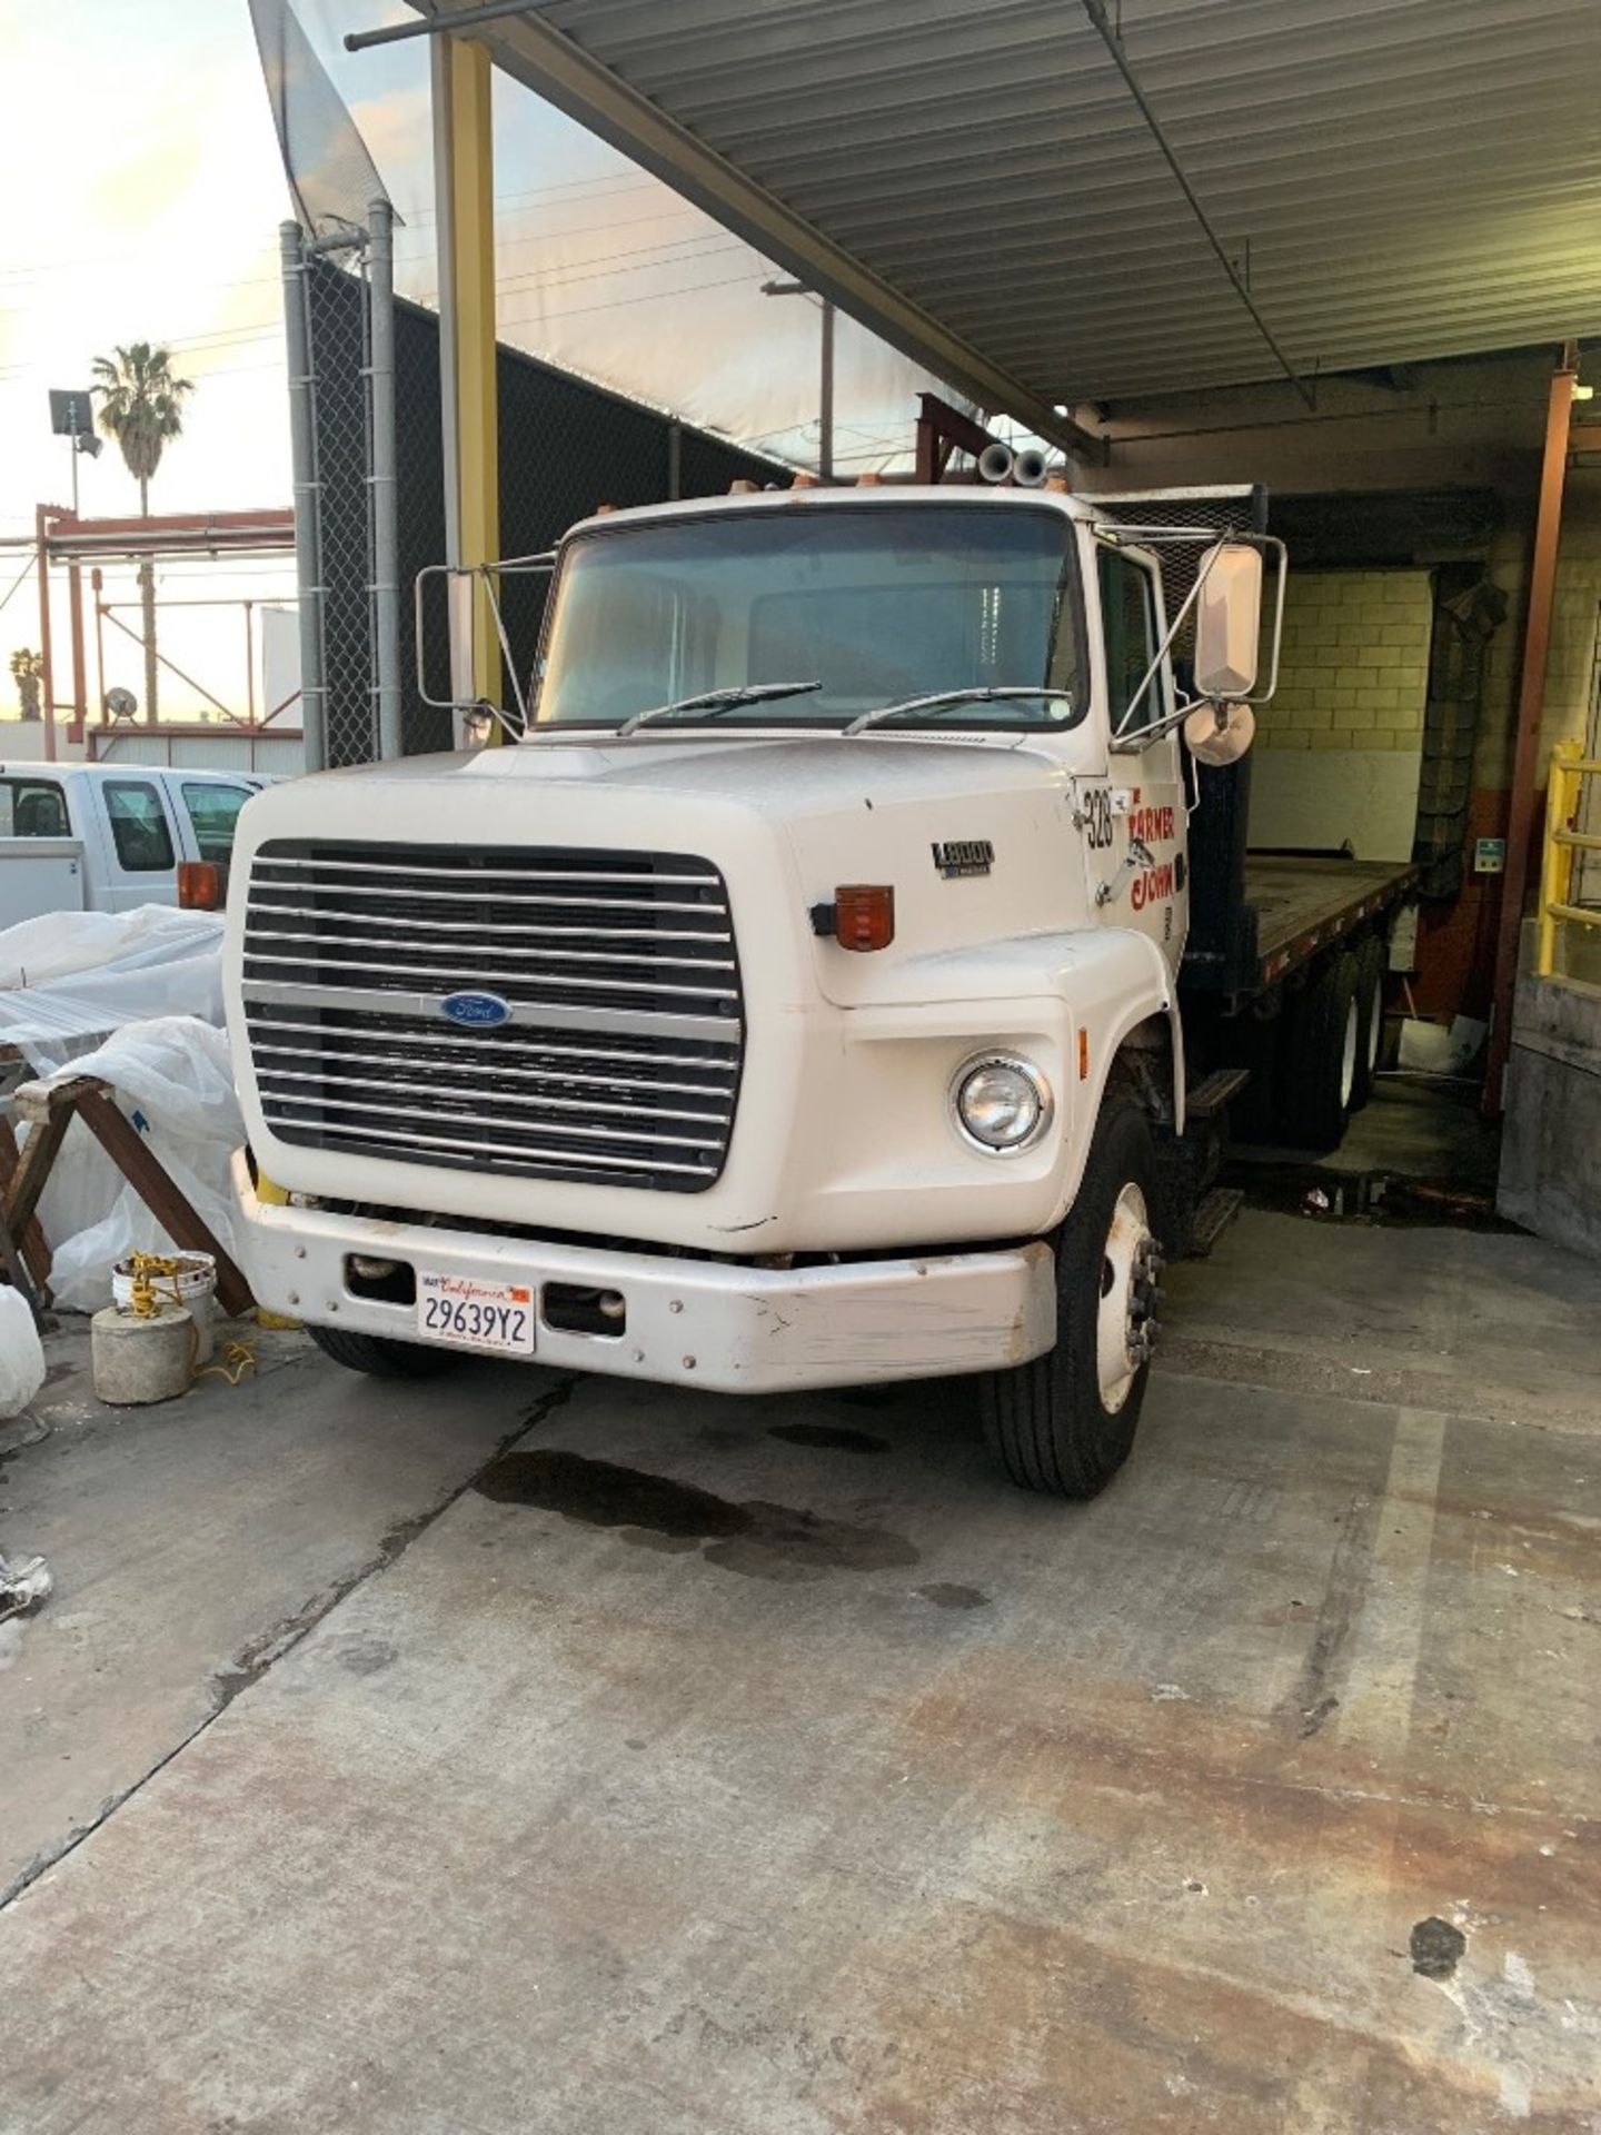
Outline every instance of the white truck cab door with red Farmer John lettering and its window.
{"label": "white truck cab door with red Farmer John lettering and its window", "polygon": [[1174,705],[1166,660],[1136,702],[1163,638],[1155,559],[1097,540],[1095,604],[1108,737],[1123,747],[1110,749],[1106,779],[1087,781],[1082,796],[1089,895],[1104,927],[1151,935],[1178,971],[1189,933],[1183,741],[1176,730],[1140,741]]}

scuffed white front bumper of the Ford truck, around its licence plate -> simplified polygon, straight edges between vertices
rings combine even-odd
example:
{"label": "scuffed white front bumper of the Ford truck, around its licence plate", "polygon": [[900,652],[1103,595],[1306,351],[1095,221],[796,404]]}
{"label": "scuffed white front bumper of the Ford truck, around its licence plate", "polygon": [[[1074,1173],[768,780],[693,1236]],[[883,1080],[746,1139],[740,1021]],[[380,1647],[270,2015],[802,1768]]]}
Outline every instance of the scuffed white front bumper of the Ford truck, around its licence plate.
{"label": "scuffed white front bumper of the Ford truck, around its licence plate", "polygon": [[[719,1394],[1001,1371],[1044,1356],[1057,1339],[1055,1260],[1040,1243],[758,1268],[284,1208],[258,1200],[243,1149],[233,1159],[233,1191],[239,1260],[256,1302],[354,1334],[425,1339],[412,1304],[350,1290],[350,1253],[489,1283],[527,1283],[540,1292],[538,1364]],[[625,1307],[621,1330],[581,1334],[549,1326],[546,1283],[617,1292]]]}

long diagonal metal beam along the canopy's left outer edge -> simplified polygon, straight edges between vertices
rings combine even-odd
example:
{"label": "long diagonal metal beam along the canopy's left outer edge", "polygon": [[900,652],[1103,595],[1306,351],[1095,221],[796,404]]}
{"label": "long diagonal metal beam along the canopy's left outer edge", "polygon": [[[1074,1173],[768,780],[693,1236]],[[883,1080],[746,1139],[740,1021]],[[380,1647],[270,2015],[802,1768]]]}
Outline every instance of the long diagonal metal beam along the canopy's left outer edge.
{"label": "long diagonal metal beam along the canopy's left outer edge", "polygon": [[[786,207],[756,179],[747,177],[687,128],[670,120],[638,90],[628,88],[561,30],[534,11],[514,6],[480,9],[433,6],[412,0],[425,15],[421,23],[399,28],[414,34],[455,30],[482,21],[485,41],[500,66],[536,96],[578,120],[602,141],[611,141],[643,169],[651,171],[685,201],[694,201],[724,228],[754,246],[764,258],[777,260],[798,275],[820,297],[830,299],[869,331],[877,333],[914,363],[924,363],[978,406],[1005,410],[1027,429],[1050,438],[1065,453],[1099,465],[1101,440],[1031,393],[1018,378],[1003,371],[986,354],[950,327],[879,280],[858,258],[843,252],[803,216]],[[504,21],[500,17],[506,17]],[[374,43],[382,32],[359,32],[361,43]]]}

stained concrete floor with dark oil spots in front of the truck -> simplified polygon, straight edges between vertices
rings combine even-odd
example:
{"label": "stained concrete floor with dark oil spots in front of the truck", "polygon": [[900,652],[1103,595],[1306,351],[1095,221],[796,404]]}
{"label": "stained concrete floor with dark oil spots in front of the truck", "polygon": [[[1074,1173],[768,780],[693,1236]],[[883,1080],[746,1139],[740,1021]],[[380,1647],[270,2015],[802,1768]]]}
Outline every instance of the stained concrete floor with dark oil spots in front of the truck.
{"label": "stained concrete floor with dark oil spots in front of the truck", "polygon": [[1597,2135],[1601,1270],[1172,1292],[1091,1507],[958,1388],[62,1377],[2,2135]]}

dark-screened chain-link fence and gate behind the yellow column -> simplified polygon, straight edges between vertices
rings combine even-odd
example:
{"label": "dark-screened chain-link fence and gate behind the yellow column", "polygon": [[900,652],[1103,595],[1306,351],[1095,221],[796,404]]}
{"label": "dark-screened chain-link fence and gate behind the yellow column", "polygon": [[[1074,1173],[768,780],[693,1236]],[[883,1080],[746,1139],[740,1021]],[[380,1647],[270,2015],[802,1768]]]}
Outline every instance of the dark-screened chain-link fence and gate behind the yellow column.
{"label": "dark-screened chain-link fence and gate behind the yellow column", "polygon": [[[292,301],[292,290],[290,290]],[[374,690],[374,583],[382,557],[371,515],[371,307],[365,254],[350,263],[312,256],[303,269],[314,478],[297,510],[316,519],[318,630],[329,764],[378,756]],[[290,348],[290,369],[292,348]],[[292,382],[292,380],[290,380]],[[788,485],[779,461],[675,423],[619,393],[572,378],[514,348],[497,354],[500,549],[536,555],[598,504],[660,504],[722,495],[730,483]],[[444,446],[440,431],[440,320],[395,303],[395,576],[399,579],[401,749],[453,745],[450,713],[416,687],[412,587],[444,562]],[[450,655],[442,581],[427,608],[427,696],[448,698]],[[514,668],[527,677],[549,581],[502,581],[502,613]],[[510,690],[508,690],[510,698]]]}

